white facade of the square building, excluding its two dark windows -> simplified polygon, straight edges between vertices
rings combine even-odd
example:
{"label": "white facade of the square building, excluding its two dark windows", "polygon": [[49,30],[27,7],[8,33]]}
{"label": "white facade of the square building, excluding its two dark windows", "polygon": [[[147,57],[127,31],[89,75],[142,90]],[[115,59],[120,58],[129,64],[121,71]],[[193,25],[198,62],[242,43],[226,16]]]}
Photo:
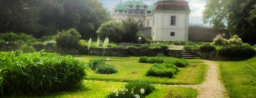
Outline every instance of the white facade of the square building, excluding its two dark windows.
{"label": "white facade of the square building, excluding its two dark windows", "polygon": [[[159,10],[153,12],[152,39],[156,41],[188,41],[189,11]],[[176,16],[176,25],[171,25]],[[174,32],[174,36],[171,36]]]}

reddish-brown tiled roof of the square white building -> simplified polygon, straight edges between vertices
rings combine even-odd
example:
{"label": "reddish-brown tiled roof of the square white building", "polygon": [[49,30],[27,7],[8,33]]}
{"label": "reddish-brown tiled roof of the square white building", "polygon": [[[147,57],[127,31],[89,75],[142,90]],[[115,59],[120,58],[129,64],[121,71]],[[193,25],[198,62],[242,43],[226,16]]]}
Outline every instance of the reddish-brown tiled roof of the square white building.
{"label": "reddish-brown tiled roof of the square white building", "polygon": [[159,0],[154,10],[186,10],[190,11],[189,4],[185,0]]}

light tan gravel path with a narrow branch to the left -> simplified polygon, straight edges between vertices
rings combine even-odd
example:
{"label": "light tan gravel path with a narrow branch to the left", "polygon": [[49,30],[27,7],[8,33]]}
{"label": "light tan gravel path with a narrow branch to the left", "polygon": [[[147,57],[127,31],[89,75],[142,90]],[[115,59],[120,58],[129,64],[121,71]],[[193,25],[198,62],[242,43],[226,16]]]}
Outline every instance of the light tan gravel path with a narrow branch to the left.
{"label": "light tan gravel path with a narrow branch to the left", "polygon": [[202,60],[208,65],[206,80],[198,85],[172,85],[177,87],[192,87],[199,91],[197,98],[229,98],[225,87],[219,80],[218,65],[214,61]]}

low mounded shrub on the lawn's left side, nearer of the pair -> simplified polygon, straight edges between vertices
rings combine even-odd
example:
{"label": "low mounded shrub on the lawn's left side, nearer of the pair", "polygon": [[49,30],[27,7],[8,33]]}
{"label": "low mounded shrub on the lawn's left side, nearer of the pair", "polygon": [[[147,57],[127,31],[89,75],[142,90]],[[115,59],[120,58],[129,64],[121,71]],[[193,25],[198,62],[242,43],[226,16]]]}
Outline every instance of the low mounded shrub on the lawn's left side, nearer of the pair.
{"label": "low mounded shrub on the lawn's left side, nearer of the pair", "polygon": [[99,73],[99,74],[112,74],[112,73],[117,73],[117,69],[113,65],[102,64],[102,65],[97,67],[97,69],[95,70],[95,73]]}

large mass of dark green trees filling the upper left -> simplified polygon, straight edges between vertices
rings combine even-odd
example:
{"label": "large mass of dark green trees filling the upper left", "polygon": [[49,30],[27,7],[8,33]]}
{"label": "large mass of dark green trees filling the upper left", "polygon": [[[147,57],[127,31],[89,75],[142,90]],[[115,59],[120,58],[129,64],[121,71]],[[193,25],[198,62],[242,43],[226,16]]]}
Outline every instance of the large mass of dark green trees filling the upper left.
{"label": "large mass of dark green trees filling the upper left", "polygon": [[74,28],[88,39],[109,20],[110,12],[98,0],[0,0],[0,33],[40,38]]}

